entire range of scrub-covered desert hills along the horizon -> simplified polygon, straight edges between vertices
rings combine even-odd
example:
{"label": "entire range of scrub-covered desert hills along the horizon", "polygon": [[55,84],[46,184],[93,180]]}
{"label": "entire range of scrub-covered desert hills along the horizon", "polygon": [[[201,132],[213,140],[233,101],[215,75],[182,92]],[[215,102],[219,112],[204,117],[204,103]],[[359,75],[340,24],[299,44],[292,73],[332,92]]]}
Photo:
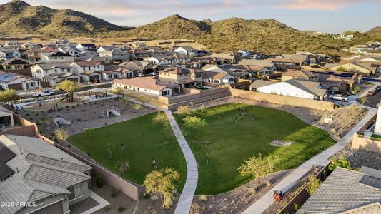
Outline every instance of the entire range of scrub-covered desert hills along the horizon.
{"label": "entire range of scrub-covered desert hills along the horizon", "polygon": [[340,54],[340,49],[367,41],[381,40],[381,27],[365,34],[353,31],[355,39],[344,41],[332,35],[316,35],[299,31],[274,19],[245,20],[239,18],[212,22],[196,21],[172,15],[137,28],[117,26],[97,17],[46,6],[30,6],[14,0],[0,5],[0,34],[43,35],[50,37],[137,37],[147,39],[194,39],[212,51],[249,49],[267,54],[317,51]]}

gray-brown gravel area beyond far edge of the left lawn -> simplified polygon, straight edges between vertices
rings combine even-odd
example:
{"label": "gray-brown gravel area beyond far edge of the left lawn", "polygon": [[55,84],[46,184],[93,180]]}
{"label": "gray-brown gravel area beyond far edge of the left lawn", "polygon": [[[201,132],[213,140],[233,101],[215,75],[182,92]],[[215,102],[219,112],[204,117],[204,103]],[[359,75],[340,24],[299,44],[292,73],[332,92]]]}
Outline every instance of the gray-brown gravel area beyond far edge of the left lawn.
{"label": "gray-brown gravel area beyond far edge of the left lawn", "polygon": [[[51,111],[51,107],[57,103],[58,111]],[[44,136],[54,140],[51,133],[57,128],[54,118],[64,118],[70,121],[70,125],[63,125],[62,128],[68,131],[70,135],[81,133],[84,128],[99,128],[105,124],[119,123],[132,118],[152,113],[156,110],[143,106],[139,110],[133,108],[134,103],[125,105],[122,99],[110,98],[103,101],[87,102],[87,103],[67,103],[60,101],[49,101],[41,103],[41,107],[35,104],[32,108],[24,108],[24,110],[16,111],[16,113],[29,121],[34,121],[39,126],[39,131]],[[107,108],[116,108],[120,111],[121,116],[110,116],[107,118],[105,111]]]}

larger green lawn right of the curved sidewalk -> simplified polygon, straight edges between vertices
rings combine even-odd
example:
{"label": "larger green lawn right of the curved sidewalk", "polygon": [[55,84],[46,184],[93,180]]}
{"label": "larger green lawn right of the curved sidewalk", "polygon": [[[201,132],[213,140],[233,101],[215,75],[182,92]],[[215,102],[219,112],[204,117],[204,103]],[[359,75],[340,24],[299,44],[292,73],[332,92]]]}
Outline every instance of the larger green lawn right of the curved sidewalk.
{"label": "larger green lawn right of the curved sidewalk", "polygon": [[[235,123],[240,107],[247,107],[247,115]],[[257,117],[255,121],[251,119],[252,114]],[[229,104],[207,108],[197,115],[207,121],[207,126],[197,131],[187,130],[176,116],[199,165],[197,194],[224,193],[247,183],[249,180],[239,176],[237,168],[252,155],[279,155],[281,161],[276,170],[284,170],[296,168],[335,143],[330,133],[271,108]],[[274,139],[296,143],[285,147],[269,145]],[[209,142],[209,164],[205,141]]]}

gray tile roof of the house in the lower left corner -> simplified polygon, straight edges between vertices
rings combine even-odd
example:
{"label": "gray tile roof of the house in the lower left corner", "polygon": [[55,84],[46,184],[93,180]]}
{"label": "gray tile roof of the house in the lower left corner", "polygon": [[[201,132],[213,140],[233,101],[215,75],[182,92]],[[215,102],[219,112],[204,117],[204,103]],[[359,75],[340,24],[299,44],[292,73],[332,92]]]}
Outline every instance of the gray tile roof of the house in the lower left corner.
{"label": "gray tile roof of the house in the lower left corner", "polygon": [[[0,143],[16,154],[6,161],[15,173],[0,183],[0,202],[31,202],[70,194],[67,187],[90,179],[84,174],[84,170],[91,169],[89,165],[39,138],[3,135]],[[22,208],[0,207],[0,213],[16,213]]]}

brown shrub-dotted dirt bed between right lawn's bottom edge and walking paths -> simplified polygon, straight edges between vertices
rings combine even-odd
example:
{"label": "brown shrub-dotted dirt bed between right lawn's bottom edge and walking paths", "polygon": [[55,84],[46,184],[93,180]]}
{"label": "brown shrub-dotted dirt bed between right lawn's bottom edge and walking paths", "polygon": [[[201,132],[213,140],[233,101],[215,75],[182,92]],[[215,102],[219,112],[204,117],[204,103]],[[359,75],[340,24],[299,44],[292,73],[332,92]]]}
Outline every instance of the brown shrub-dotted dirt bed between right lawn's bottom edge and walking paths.
{"label": "brown shrub-dotted dirt bed between right lawn's bottom edge and walking paths", "polygon": [[291,171],[283,170],[266,175],[227,193],[209,196],[196,195],[190,213],[242,213]]}

